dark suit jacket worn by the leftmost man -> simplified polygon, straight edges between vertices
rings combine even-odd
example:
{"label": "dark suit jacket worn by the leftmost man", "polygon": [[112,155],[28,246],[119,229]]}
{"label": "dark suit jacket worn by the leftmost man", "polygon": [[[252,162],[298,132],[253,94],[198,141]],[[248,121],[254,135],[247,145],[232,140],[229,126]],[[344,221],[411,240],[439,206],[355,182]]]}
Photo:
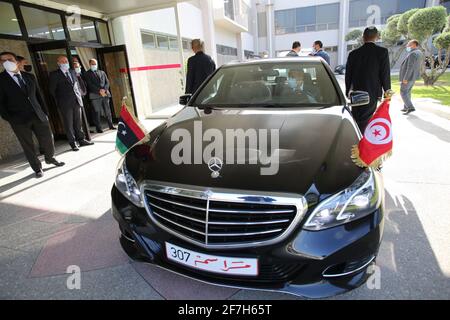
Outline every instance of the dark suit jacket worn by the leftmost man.
{"label": "dark suit jacket worn by the leftmost man", "polygon": [[42,122],[48,121],[48,109],[36,78],[31,73],[21,74],[27,92],[22,91],[8,72],[0,73],[0,115],[11,124],[25,124],[36,116]]}

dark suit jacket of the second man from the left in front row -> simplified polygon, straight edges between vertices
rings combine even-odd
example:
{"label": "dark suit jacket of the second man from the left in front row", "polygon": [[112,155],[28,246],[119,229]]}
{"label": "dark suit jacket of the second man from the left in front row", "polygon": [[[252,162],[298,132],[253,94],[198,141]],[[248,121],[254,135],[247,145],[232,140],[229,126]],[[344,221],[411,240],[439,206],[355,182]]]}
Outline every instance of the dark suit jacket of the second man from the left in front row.
{"label": "dark suit jacket of the second man from the left in front row", "polygon": [[73,108],[77,104],[83,106],[83,95],[80,83],[74,70],[68,71],[72,77],[70,82],[66,75],[58,69],[50,73],[49,91],[59,108]]}

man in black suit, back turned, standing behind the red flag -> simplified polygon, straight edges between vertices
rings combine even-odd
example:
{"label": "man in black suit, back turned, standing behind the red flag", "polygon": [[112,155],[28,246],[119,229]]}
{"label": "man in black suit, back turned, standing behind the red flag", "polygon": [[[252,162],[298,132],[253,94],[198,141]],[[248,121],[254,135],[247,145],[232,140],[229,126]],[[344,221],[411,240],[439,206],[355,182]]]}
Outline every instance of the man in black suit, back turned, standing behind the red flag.
{"label": "man in black suit, back turned, standing behind the red flag", "polygon": [[370,118],[377,109],[384,92],[391,89],[391,67],[386,48],[375,44],[379,39],[377,28],[364,30],[364,45],[350,52],[345,74],[346,93],[366,91],[370,96],[367,106],[356,107],[352,111],[361,132],[364,133]]}

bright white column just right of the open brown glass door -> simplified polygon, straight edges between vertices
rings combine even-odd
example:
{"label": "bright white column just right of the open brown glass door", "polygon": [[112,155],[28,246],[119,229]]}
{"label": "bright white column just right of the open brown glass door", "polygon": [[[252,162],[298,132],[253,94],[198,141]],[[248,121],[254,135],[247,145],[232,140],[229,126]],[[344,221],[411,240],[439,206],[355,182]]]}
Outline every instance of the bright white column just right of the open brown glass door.
{"label": "bright white column just right of the open brown glass door", "polygon": [[[130,68],[145,66],[144,47],[142,45],[141,30],[131,16],[124,16],[112,20],[114,43],[124,44],[127,48]],[[150,84],[146,72],[131,72],[133,82],[134,101],[139,119],[146,119],[152,114],[152,101],[149,93]]]}

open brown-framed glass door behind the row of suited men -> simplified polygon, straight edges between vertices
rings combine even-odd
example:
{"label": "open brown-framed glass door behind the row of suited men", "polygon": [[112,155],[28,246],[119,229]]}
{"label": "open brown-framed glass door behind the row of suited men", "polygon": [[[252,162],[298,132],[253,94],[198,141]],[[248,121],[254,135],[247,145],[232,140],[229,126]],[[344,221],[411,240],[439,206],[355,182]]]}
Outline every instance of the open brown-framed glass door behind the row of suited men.
{"label": "open brown-framed glass door behind the row of suited men", "polygon": [[128,55],[125,46],[97,49],[97,54],[100,66],[109,78],[113,118],[116,120],[119,119],[122,100],[125,97],[128,107],[137,116]]}

